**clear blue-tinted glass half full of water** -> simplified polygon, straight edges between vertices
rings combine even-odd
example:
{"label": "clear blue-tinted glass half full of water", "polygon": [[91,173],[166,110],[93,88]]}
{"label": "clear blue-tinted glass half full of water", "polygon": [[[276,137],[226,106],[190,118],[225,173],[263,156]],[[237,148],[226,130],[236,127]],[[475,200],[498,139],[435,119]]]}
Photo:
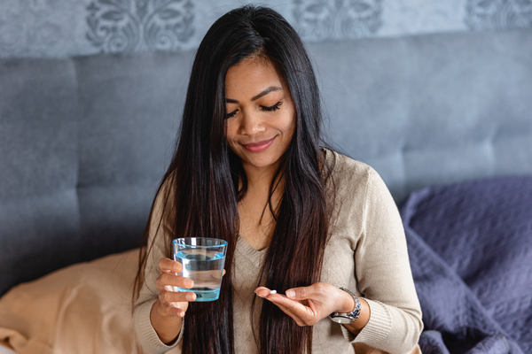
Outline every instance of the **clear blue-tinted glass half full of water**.
{"label": "clear blue-tinted glass half full of water", "polygon": [[184,237],[176,238],[172,243],[174,260],[183,265],[183,271],[177,275],[194,281],[192,289],[174,288],[195,293],[196,301],[217,300],[222,285],[227,242],[217,238]]}

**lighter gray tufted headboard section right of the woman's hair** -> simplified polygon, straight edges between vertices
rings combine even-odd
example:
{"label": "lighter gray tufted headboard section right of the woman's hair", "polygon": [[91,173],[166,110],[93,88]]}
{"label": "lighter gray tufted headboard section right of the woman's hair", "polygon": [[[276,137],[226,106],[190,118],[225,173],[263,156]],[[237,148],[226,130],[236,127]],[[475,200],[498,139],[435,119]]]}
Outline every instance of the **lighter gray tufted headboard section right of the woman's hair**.
{"label": "lighter gray tufted headboard section right of the woman's hair", "polygon": [[373,165],[397,200],[426,185],[532,173],[532,31],[310,50],[332,140]]}

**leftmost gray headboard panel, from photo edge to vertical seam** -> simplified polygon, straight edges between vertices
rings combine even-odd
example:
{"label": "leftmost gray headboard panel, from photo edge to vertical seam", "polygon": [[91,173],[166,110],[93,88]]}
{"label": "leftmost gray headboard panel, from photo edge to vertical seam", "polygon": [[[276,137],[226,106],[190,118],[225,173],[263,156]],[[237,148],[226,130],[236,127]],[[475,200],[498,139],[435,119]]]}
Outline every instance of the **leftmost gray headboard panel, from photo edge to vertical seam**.
{"label": "leftmost gray headboard panel, from photo edge to vertical seam", "polygon": [[76,261],[72,60],[0,60],[0,294]]}

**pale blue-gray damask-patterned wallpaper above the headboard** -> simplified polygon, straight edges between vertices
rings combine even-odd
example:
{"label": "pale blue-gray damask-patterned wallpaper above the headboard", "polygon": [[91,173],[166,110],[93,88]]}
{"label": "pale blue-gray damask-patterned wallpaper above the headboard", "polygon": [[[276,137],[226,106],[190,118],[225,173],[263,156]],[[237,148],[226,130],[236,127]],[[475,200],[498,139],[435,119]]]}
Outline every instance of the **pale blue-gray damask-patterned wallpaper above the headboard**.
{"label": "pale blue-gray damask-patterned wallpaper above the headboard", "polygon": [[[189,50],[198,46],[215,19],[245,3],[0,0],[0,57]],[[273,0],[262,4],[282,13],[308,42],[532,27],[532,0]]]}

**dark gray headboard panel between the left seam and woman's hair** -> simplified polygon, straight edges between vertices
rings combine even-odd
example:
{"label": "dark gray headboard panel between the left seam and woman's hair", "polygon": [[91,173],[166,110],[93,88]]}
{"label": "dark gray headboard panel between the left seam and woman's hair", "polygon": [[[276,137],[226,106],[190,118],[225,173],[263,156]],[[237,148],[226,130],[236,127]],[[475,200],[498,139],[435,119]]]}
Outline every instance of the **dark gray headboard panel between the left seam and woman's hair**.
{"label": "dark gray headboard panel between the left seam and woman's hair", "polygon": [[75,59],[82,112],[78,191],[88,258],[138,245],[171,157],[191,62],[190,52]]}

